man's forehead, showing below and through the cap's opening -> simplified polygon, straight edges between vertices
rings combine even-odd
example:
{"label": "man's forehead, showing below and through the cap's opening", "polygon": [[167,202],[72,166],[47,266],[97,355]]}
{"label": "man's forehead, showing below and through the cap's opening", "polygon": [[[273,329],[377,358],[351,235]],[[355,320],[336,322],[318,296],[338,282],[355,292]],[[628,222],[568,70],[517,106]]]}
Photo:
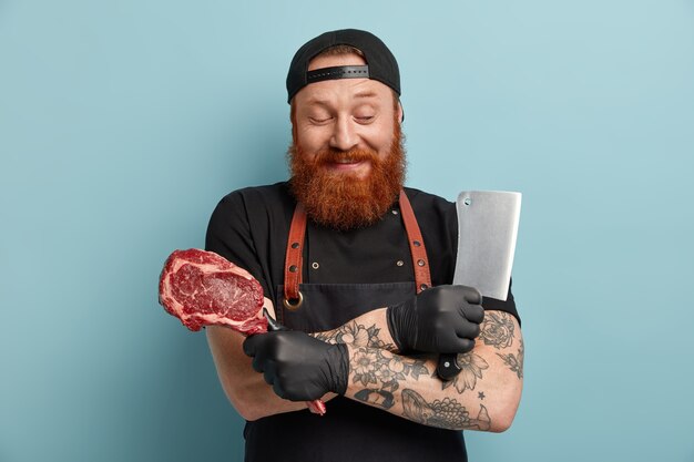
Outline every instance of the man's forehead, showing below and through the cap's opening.
{"label": "man's forehead, showing below and through the cap's opening", "polygon": [[[339,65],[364,65],[366,61],[356,53],[339,55],[323,55],[314,58],[308,70],[334,68]],[[387,103],[392,100],[390,89],[376,80],[370,79],[335,79],[310,83],[304,86],[295,96],[297,106],[323,103],[355,103],[372,101]]]}

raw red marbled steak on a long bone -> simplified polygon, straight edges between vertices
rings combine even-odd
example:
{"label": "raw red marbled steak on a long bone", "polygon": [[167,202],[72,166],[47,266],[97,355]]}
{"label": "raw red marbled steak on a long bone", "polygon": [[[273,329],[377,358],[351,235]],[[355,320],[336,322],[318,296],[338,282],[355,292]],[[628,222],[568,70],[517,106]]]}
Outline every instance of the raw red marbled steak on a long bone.
{"label": "raw red marbled steak on a long bone", "polygon": [[[267,331],[261,284],[213,251],[174,250],[160,276],[159,302],[193,331],[212,325],[248,336]],[[308,409],[323,415],[325,403],[310,401]]]}

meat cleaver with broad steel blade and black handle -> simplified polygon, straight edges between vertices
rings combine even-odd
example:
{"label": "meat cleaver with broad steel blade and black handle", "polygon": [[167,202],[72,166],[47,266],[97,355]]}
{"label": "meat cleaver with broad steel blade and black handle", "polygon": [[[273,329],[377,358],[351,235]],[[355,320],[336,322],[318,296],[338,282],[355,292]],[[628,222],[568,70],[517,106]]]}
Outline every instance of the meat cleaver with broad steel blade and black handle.
{"label": "meat cleaver with broad steel blade and black handle", "polygon": [[[521,193],[463,191],[458,195],[455,285],[474,287],[483,298],[507,299],[520,206]],[[456,353],[439,357],[439,378],[450,380],[460,372],[456,358]]]}

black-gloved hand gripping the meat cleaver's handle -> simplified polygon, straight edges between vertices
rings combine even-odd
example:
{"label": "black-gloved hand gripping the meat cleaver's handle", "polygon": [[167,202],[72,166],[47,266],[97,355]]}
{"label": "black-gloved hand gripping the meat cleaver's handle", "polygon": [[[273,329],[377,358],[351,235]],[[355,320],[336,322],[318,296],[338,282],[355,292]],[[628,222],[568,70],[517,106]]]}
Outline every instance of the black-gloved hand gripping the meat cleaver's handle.
{"label": "black-gloved hand gripping the meat cleaver's handle", "polygon": [[465,353],[480,335],[481,302],[472,287],[432,287],[388,307],[388,329],[400,352]]}

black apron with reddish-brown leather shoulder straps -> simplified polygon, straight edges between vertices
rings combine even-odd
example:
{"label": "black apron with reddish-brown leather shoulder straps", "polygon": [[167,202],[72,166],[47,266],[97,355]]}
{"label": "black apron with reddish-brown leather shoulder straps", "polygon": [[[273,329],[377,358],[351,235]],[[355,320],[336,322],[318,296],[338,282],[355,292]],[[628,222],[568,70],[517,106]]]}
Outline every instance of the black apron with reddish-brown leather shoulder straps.
{"label": "black apron with reddish-brown leather shoulder straps", "polygon": [[[277,290],[284,298],[274,300],[278,320],[305,332],[331,330],[429,287],[425,243],[405,193],[400,193],[400,211],[415,283],[303,284],[306,215],[297,205],[287,243],[285,284]],[[328,401],[326,407],[323,417],[304,410],[246,422],[246,461],[467,461],[460,431],[425,427],[343,397]]]}

